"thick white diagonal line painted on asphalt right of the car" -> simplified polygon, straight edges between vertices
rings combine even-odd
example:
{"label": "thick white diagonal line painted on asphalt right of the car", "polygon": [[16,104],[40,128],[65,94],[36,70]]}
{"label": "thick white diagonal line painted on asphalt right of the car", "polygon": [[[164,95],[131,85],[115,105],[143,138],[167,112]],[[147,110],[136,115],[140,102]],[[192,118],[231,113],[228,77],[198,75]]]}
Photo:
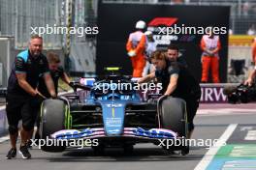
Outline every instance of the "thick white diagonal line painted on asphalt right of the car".
{"label": "thick white diagonal line painted on asphalt right of the car", "polygon": [[227,142],[229,137],[232,135],[234,130],[238,127],[238,124],[231,124],[223,132],[215,146],[209,148],[208,153],[202,158],[202,160],[197,164],[194,170],[205,170],[208,168],[208,164],[211,162],[213,157],[217,154],[223,142]]}

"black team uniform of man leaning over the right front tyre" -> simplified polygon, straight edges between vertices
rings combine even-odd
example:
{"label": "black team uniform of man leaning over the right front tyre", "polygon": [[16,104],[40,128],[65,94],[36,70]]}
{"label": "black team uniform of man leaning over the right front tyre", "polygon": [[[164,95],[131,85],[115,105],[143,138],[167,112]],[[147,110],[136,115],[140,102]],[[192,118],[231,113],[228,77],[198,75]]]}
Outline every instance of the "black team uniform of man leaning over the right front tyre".
{"label": "black team uniform of man leaning over the right front tyre", "polygon": [[201,98],[201,88],[197,80],[187,71],[185,66],[178,62],[168,62],[164,70],[156,70],[155,76],[162,83],[164,94],[170,83],[170,77],[174,74],[178,75],[176,90],[171,94],[174,98],[184,99],[186,101],[187,117],[189,130],[194,128],[193,119],[199,107]]}

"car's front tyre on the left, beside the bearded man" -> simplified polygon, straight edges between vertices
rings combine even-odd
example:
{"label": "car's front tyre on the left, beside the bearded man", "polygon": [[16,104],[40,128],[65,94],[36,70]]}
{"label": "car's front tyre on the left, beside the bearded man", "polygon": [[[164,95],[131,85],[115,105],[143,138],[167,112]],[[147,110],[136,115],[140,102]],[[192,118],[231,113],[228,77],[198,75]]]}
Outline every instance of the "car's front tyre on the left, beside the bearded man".
{"label": "car's front tyre on the left, beside the bearded man", "polygon": [[[60,99],[46,99],[42,103],[40,135],[42,139],[51,139],[50,134],[65,128],[66,104]],[[66,146],[42,146],[46,152],[63,152]]]}

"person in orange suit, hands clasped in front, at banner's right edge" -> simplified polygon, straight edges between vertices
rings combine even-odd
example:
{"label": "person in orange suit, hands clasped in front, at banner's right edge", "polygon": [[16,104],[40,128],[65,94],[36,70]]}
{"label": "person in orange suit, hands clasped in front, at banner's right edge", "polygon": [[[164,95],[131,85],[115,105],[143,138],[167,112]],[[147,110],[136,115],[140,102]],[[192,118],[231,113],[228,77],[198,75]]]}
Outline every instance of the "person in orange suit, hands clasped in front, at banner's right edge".
{"label": "person in orange suit, hands clasped in front, at banner's right edge", "polygon": [[219,54],[220,40],[219,36],[212,34],[204,35],[201,40],[202,53],[202,83],[208,82],[208,70],[211,70],[213,83],[219,83]]}

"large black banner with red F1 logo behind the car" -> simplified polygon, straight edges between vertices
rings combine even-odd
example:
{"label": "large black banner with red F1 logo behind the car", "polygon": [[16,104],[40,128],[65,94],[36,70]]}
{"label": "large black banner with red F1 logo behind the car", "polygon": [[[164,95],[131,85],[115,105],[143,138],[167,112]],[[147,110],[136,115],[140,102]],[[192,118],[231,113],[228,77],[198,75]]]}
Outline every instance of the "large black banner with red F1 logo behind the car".
{"label": "large black banner with red F1 logo behind the car", "polygon": [[96,73],[106,67],[121,67],[132,74],[132,64],[126,51],[129,34],[136,31],[138,20],[144,20],[146,30],[153,32],[158,49],[176,43],[188,69],[201,80],[200,42],[207,28],[214,28],[221,42],[219,52],[220,82],[227,80],[229,7],[100,3],[96,49]]}

